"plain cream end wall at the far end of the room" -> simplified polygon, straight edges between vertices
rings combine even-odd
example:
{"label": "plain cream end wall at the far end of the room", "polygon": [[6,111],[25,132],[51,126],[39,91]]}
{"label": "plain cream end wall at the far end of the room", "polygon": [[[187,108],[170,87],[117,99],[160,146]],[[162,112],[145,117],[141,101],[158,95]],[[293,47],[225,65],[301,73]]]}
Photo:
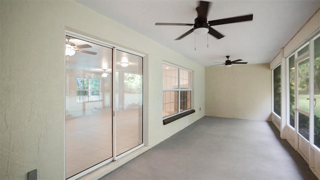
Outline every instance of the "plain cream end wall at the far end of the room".
{"label": "plain cream end wall at the far end of the room", "polygon": [[270,120],[269,64],[205,67],[205,115]]}

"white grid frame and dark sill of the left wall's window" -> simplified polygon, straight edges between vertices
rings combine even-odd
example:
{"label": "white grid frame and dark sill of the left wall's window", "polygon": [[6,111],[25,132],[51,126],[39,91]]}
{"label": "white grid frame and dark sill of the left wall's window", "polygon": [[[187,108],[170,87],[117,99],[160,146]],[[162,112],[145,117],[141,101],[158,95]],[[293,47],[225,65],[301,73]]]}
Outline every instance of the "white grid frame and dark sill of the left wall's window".
{"label": "white grid frame and dark sill of the left wall's window", "polygon": [[[178,94],[178,99],[177,99],[177,112],[176,113],[172,113],[172,114],[169,114],[169,115],[166,115],[166,116],[162,116],[162,120],[163,120],[163,124],[166,124],[166,123],[169,123],[171,121],[174,121],[178,118],[181,118],[185,115],[188,115],[190,113],[193,113],[195,110],[192,109],[193,107],[193,101],[192,101],[192,95],[193,95],[193,91],[192,91],[192,70],[189,70],[189,69],[186,69],[186,68],[183,68],[181,66],[177,66],[177,65],[173,65],[171,63],[167,63],[167,62],[162,62],[162,68],[163,68],[163,65],[169,65],[169,66],[172,66],[172,67],[175,67],[177,68],[177,81],[178,81],[178,88],[163,88],[163,69],[162,69],[162,95],[163,95],[163,92],[167,92],[167,91],[173,91],[173,92],[177,92]],[[187,79],[189,80],[188,83],[190,83],[188,86],[188,88],[183,88],[181,87],[181,83],[180,83],[180,80],[181,80],[181,76],[180,76],[180,70],[185,70],[187,71],[188,73],[190,73],[190,79]],[[186,109],[181,109],[181,92],[182,91],[190,91],[190,108],[186,108]],[[162,97],[162,115],[163,115],[163,108],[164,108],[164,97]],[[175,99],[174,99],[175,100]]]}

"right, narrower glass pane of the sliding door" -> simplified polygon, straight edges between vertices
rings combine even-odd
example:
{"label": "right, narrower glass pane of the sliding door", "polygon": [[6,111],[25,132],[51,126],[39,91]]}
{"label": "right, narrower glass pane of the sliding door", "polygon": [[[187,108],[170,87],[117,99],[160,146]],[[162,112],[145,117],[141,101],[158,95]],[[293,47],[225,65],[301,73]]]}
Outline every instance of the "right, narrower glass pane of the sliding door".
{"label": "right, narrower glass pane of the sliding door", "polygon": [[115,54],[115,154],[119,155],[142,144],[143,58],[121,50]]}

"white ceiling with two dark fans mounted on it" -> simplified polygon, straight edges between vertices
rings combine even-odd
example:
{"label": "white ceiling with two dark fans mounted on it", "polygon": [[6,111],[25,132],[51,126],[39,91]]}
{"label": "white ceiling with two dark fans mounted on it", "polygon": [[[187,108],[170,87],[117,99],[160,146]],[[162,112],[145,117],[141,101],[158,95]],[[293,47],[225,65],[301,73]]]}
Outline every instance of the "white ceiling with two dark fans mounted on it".
{"label": "white ceiling with two dark fans mounted on it", "polygon": [[[76,0],[204,66],[243,59],[268,63],[320,7],[320,0],[210,0],[207,20],[253,13],[252,21],[211,26],[225,37],[191,33],[174,40],[194,23],[196,0]],[[125,44],[123,44],[125,45]],[[208,45],[208,47],[207,47]],[[194,50],[195,48],[195,50]]]}

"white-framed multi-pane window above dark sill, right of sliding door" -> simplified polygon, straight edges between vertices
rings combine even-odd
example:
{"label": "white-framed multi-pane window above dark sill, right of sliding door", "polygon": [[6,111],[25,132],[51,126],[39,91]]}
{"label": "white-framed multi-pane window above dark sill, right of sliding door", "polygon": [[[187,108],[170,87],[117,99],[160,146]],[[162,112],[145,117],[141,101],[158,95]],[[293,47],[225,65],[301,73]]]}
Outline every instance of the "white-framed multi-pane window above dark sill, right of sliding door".
{"label": "white-framed multi-pane window above dark sill, right of sliding door", "polygon": [[191,109],[191,71],[163,63],[162,73],[163,118]]}

